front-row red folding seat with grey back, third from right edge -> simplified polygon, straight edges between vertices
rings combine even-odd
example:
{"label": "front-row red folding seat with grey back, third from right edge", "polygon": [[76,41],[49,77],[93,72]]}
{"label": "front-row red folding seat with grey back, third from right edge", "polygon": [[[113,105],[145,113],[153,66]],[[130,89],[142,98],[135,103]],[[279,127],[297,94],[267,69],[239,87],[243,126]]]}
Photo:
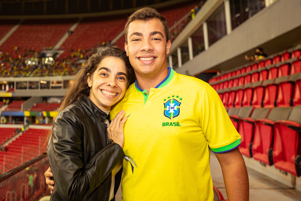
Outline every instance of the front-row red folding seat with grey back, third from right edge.
{"label": "front-row red folding seat with grey back, third from right edge", "polygon": [[238,133],[241,136],[241,144],[238,148],[241,154],[252,158],[255,121],[258,119],[266,118],[269,111],[270,108],[256,108],[253,110],[251,117],[240,118]]}

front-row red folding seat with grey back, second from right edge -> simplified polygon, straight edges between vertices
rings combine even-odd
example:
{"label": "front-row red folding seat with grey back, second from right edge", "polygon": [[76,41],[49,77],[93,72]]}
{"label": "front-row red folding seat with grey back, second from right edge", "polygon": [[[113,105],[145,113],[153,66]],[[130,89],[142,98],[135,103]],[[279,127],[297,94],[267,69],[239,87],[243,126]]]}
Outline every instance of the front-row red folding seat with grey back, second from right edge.
{"label": "front-row red folding seat with grey back, second from right edge", "polygon": [[287,120],[292,108],[273,108],[268,118],[255,121],[253,140],[253,158],[267,165],[273,165],[274,123],[279,120]]}

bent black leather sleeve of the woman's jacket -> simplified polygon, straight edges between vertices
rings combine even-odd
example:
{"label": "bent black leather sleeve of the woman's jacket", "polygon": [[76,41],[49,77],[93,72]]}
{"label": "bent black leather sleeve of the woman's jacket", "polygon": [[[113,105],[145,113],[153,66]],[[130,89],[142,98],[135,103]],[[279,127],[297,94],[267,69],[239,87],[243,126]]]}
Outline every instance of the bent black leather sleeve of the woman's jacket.
{"label": "bent black leather sleeve of the woman's jacket", "polygon": [[110,143],[84,164],[83,134],[76,114],[65,111],[57,116],[47,152],[55,185],[66,200],[84,200],[124,157],[123,149]]}

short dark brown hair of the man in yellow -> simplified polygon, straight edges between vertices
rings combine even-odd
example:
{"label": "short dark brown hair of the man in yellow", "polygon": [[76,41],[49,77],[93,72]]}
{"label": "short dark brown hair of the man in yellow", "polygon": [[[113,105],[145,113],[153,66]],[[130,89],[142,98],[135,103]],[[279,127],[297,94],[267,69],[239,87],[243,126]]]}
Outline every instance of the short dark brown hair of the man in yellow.
{"label": "short dark brown hair of the man in yellow", "polygon": [[156,9],[154,8],[149,8],[149,7],[144,7],[140,8],[137,11],[135,11],[131,16],[129,17],[126,26],[124,27],[124,36],[126,38],[126,43],[128,43],[128,31],[129,31],[129,24],[132,21],[135,20],[142,20],[144,22],[147,22],[148,20],[157,18],[161,21],[164,27],[164,32],[166,36],[166,42],[169,40],[169,30],[168,30],[168,25],[165,17],[161,15]]}

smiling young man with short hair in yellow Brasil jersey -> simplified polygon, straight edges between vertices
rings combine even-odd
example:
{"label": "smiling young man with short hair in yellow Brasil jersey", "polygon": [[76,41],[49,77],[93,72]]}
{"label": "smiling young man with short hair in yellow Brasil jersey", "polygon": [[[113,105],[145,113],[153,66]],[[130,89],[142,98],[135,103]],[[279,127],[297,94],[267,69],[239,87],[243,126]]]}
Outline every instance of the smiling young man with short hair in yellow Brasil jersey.
{"label": "smiling young man with short hair in yellow Brasil jersey", "polygon": [[167,68],[166,19],[141,8],[129,17],[125,37],[137,80],[110,114],[113,119],[124,109],[130,115],[123,150],[138,168],[123,160],[123,200],[213,200],[210,149],[222,167],[228,199],[248,200],[240,135],[211,86]]}

